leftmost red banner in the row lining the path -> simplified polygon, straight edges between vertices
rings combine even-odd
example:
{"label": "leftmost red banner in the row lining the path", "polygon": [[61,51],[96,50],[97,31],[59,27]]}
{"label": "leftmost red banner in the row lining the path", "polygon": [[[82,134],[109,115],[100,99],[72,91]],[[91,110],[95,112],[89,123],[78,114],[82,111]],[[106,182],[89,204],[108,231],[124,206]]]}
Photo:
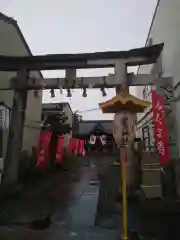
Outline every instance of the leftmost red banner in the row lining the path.
{"label": "leftmost red banner in the row lining the path", "polygon": [[40,133],[36,166],[41,169],[44,169],[46,167],[46,159],[48,157],[51,135],[52,135],[51,132]]}

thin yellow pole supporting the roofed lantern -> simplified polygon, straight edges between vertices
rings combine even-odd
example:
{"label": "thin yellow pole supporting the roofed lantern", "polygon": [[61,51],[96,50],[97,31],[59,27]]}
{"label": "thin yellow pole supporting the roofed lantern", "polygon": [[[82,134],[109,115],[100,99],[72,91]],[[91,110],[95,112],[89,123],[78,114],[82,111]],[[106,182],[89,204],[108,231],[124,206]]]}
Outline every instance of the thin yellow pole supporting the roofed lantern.
{"label": "thin yellow pole supporting the roofed lantern", "polygon": [[122,174],[122,240],[128,239],[127,226],[127,191],[126,191],[126,148],[121,149],[121,174]]}

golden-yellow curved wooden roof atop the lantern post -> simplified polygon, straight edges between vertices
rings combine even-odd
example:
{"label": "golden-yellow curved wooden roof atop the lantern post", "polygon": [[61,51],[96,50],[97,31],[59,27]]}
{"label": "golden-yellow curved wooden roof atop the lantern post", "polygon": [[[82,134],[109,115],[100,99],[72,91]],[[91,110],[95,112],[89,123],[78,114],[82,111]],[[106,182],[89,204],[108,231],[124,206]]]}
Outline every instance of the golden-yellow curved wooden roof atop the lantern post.
{"label": "golden-yellow curved wooden roof atop the lantern post", "polygon": [[144,109],[150,106],[150,104],[149,101],[144,101],[129,93],[118,93],[112,99],[99,103],[99,107],[103,113],[117,113],[121,111],[138,113],[144,112]]}

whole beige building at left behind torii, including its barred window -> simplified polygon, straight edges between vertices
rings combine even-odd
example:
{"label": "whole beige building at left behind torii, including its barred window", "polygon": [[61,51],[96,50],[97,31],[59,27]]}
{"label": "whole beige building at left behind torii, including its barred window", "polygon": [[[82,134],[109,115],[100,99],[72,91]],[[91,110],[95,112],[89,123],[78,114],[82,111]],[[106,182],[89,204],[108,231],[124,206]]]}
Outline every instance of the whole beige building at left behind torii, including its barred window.
{"label": "whole beige building at left behind torii, including its barred window", "polygon": [[[0,13],[0,55],[6,56],[31,56],[32,53],[18,27],[17,22]],[[1,157],[5,157],[8,130],[10,124],[11,109],[13,104],[13,91],[2,90],[9,85],[12,77],[16,76],[15,72],[0,72],[0,118],[1,118]],[[30,77],[43,78],[41,72],[32,71]],[[24,134],[23,134],[23,150],[31,152],[32,147],[37,146],[41,123],[42,108],[42,91],[28,91],[27,107],[25,114]],[[7,116],[8,115],[8,116]],[[4,116],[6,123],[4,125]]]}

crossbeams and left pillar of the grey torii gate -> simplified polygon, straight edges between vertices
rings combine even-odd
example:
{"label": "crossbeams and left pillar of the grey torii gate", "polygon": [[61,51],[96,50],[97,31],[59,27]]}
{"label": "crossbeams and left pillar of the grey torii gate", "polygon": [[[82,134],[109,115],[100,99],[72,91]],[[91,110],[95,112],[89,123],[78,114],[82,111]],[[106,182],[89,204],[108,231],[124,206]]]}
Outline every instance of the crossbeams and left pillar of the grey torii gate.
{"label": "crossbeams and left pillar of the grey torii gate", "polygon": [[[96,52],[84,54],[50,54],[42,56],[9,57],[0,56],[0,71],[15,71],[17,77],[10,79],[0,90],[14,90],[10,134],[5,159],[5,182],[17,180],[17,163],[20,156],[27,91],[32,89],[58,88],[111,88],[122,86],[153,85],[151,75],[127,73],[128,66],[155,63],[163,44],[132,49],[129,51]],[[76,77],[77,69],[114,67],[115,74],[102,77]],[[35,79],[29,76],[34,70],[66,71],[65,78]],[[163,82],[169,79],[163,79]]]}

